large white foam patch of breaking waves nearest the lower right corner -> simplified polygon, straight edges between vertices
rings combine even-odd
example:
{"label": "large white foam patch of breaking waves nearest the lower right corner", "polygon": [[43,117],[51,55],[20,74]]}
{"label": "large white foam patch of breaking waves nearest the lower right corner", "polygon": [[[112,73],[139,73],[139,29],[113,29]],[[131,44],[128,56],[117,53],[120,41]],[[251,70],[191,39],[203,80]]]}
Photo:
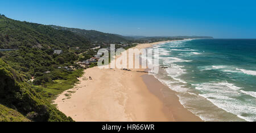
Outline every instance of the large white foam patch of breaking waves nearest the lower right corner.
{"label": "large white foam patch of breaking waves nearest the lower right corner", "polygon": [[248,121],[248,119],[256,120],[256,109],[254,105],[236,98],[242,95],[241,92],[243,91],[240,90],[240,87],[226,81],[193,85],[196,86],[196,89],[201,91],[200,96],[207,98],[207,100],[218,106],[218,108],[240,116],[243,116],[244,114],[247,114],[248,116],[250,115],[250,117],[243,116],[246,117],[246,119],[243,118],[246,121]]}

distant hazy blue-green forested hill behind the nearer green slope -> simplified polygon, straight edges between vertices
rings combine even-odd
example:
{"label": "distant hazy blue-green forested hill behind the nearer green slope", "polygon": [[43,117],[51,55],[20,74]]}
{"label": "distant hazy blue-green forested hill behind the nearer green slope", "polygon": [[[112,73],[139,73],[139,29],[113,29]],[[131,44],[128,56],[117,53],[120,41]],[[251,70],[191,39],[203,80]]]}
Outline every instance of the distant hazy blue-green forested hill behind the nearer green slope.
{"label": "distant hazy blue-green forested hill behind the nearer green slope", "polygon": [[127,41],[125,37],[121,35],[103,33],[103,32],[94,31],[94,30],[59,27],[56,25],[50,25],[50,26],[52,28],[62,30],[62,31],[71,31],[73,33],[76,33],[77,35],[89,38],[90,41]]}

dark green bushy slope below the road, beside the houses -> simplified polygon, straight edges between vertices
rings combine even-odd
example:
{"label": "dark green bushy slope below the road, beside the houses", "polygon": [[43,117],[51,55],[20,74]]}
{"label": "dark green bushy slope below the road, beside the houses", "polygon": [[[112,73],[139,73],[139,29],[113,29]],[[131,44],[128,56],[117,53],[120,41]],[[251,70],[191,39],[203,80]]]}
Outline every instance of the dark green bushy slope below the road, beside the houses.
{"label": "dark green bushy slope below the road, beside the houses", "polygon": [[38,78],[46,71],[53,71],[57,67],[76,66],[74,61],[78,55],[64,50],[63,54],[53,54],[52,49],[26,48],[20,46],[19,50],[2,53],[4,59],[11,67],[23,74],[24,78]]}

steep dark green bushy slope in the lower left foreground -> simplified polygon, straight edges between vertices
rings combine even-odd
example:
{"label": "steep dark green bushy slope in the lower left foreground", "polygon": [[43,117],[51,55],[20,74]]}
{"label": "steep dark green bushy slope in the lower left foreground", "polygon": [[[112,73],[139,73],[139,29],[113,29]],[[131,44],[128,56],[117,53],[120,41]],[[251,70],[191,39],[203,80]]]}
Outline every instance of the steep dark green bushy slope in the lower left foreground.
{"label": "steep dark green bushy slope in the lower left foreground", "polygon": [[10,111],[19,116],[17,119],[24,121],[26,119],[22,115],[31,121],[73,121],[40,96],[35,91],[35,86],[24,82],[22,76],[2,59],[0,59],[0,77],[0,104],[1,108],[7,107],[1,111],[0,118],[3,121],[12,121],[13,118],[6,116]]}

